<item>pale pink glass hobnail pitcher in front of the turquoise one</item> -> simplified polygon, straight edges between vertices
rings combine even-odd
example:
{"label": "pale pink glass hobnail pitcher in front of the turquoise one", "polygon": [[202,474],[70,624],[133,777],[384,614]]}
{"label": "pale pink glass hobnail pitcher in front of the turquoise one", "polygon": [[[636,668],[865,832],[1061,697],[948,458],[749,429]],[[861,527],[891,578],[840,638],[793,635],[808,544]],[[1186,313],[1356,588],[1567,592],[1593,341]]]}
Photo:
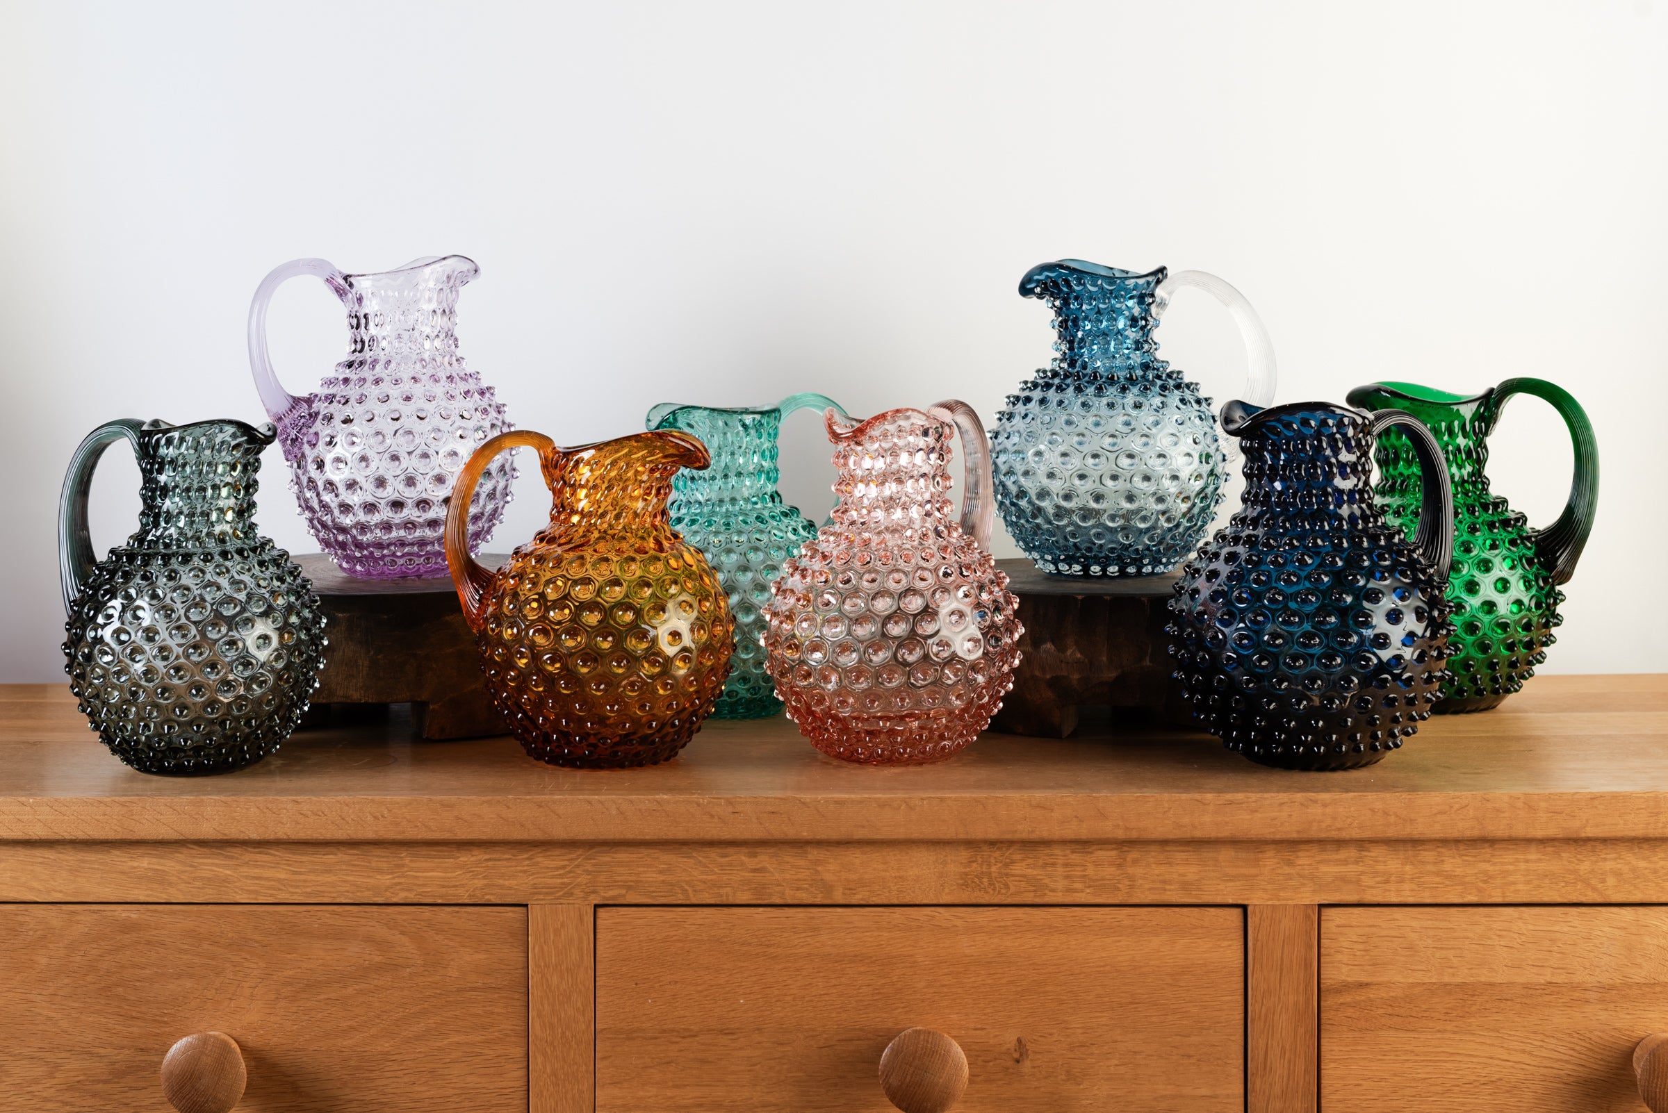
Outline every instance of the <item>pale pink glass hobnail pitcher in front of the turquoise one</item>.
{"label": "pale pink glass hobnail pitcher in front of the turquoise one", "polygon": [[[766,666],[799,733],[871,765],[966,748],[1014,685],[1019,600],[996,568],[991,457],[964,402],[824,417],[839,478],[829,525],[782,563]],[[967,453],[961,520],[951,438]]]}

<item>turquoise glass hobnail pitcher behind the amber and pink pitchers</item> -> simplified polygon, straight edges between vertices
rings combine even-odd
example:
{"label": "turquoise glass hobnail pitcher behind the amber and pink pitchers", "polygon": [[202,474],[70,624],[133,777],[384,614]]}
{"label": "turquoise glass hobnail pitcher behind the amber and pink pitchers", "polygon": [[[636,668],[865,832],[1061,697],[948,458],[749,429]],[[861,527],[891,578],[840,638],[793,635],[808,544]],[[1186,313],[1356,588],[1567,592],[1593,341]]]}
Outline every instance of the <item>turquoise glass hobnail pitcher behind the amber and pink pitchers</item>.
{"label": "turquoise glass hobnail pitcher behind the amber and pink pitchers", "polygon": [[762,718],[782,710],[764,668],[764,606],[782,561],[817,535],[811,518],[776,490],[777,435],[796,410],[844,413],[822,395],[794,395],[774,407],[721,410],[661,403],[649,428],[681,428],[699,437],[712,467],[684,468],[672,480],[672,528],[706,553],[736,618],[736,658],[714,718]]}

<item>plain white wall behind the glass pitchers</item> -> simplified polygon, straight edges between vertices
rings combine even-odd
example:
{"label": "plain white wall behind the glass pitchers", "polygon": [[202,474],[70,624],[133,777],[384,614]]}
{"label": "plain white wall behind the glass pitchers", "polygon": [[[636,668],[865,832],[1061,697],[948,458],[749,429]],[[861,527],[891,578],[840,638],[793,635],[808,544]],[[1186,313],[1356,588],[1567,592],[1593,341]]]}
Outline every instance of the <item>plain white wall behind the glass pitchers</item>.
{"label": "plain white wall behind the glass pitchers", "polygon": [[[1611,3],[67,3],[0,0],[0,680],[62,680],[53,518],[113,417],[260,420],[274,265],[460,252],[472,367],[577,443],[656,402],[967,398],[1049,358],[1032,263],[1213,270],[1268,322],[1281,400],[1409,378],[1571,388],[1603,502],[1548,671],[1668,670],[1658,583],[1668,32]],[[297,280],[307,390],[342,313]],[[1203,295],[1164,353],[1243,375]],[[827,502],[816,420],[791,498]],[[1513,403],[1496,488],[1531,520],[1570,448]],[[300,525],[274,448],[262,527]],[[525,538],[535,475],[494,548]],[[132,528],[113,450],[93,538]],[[1014,550],[1001,538],[999,553]],[[1651,588],[1658,590],[1658,588]]]}

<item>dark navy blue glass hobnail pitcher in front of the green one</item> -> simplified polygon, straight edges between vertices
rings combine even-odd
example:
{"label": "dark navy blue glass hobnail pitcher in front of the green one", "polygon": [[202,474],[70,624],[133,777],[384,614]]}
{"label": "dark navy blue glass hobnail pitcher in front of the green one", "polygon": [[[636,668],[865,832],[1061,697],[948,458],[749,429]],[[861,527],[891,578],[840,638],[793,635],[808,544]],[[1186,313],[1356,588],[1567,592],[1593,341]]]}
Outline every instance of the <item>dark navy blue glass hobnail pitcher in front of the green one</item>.
{"label": "dark navy blue glass hobnail pitcher in front of the green one", "polygon": [[1429,442],[1419,543],[1384,518],[1371,458],[1388,420],[1411,418],[1293,403],[1234,423],[1244,503],[1184,565],[1169,650],[1194,715],[1253,761],[1379,761],[1448,678],[1451,495]]}

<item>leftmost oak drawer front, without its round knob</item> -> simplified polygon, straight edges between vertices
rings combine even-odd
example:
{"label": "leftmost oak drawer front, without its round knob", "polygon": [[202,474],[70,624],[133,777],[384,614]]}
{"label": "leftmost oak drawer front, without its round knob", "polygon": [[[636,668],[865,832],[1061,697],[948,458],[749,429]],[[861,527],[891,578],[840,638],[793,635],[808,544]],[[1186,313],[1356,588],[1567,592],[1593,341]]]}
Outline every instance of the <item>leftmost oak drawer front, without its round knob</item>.
{"label": "leftmost oak drawer front, without its round knob", "polygon": [[252,1113],[527,1110],[522,908],[0,905],[0,1105],[172,1113],[182,1036]]}

